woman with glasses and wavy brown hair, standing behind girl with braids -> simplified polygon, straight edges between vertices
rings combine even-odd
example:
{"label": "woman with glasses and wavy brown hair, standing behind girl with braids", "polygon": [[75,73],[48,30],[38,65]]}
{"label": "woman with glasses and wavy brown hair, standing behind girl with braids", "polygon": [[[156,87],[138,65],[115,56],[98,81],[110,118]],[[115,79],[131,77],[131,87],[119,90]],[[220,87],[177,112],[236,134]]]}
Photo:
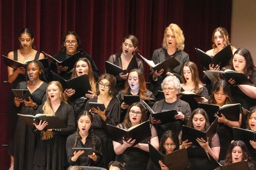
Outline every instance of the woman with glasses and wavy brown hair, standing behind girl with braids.
{"label": "woman with glasses and wavy brown hair, standing behind girl with braids", "polygon": [[[120,103],[114,98],[113,93],[116,87],[114,75],[103,74],[98,79],[96,97],[89,99],[85,105],[85,111],[93,113],[93,131],[102,142],[102,162],[99,166],[107,168],[108,163],[114,159],[114,150],[112,141],[106,131],[106,123],[116,126],[120,118]],[[99,108],[90,108],[89,102],[104,103],[106,110],[101,111]]]}

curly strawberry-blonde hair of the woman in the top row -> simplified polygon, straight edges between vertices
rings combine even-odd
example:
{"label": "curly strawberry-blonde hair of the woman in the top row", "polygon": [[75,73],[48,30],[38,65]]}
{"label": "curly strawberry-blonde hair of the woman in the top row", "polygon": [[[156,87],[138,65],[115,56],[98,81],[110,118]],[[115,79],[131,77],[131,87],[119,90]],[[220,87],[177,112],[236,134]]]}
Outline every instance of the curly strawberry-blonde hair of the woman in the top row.
{"label": "curly strawberry-blonde hair of the woman in the top row", "polygon": [[175,40],[176,40],[176,49],[177,50],[184,50],[184,35],[183,31],[179,28],[177,24],[170,24],[167,28],[165,28],[164,35],[163,35],[163,48],[167,49],[167,42],[165,40],[167,31],[171,30],[173,34],[175,35]]}

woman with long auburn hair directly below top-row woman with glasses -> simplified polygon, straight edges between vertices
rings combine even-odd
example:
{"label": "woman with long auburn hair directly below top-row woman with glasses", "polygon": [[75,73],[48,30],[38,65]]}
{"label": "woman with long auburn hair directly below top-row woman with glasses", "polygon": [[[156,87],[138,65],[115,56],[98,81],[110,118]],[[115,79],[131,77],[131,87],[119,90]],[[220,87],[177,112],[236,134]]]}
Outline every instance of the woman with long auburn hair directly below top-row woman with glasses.
{"label": "woman with long auburn hair directly below top-row woman with glasses", "polygon": [[[76,127],[77,127],[78,115],[80,114],[81,111],[84,110],[87,100],[92,99],[96,95],[96,82],[95,82],[94,75],[93,75],[92,65],[88,59],[80,58],[75,63],[75,67],[74,67],[73,73],[71,75],[71,78],[73,79],[75,77],[85,75],[85,74],[88,75],[88,79],[89,79],[89,83],[91,85],[92,91],[88,91],[89,94],[85,94],[85,96],[83,96],[79,99],[76,99],[75,101],[72,101],[72,102],[69,101],[71,106],[73,106],[73,109],[75,112]],[[64,91],[64,95],[67,98],[71,97],[75,93],[76,93],[76,91],[72,88],[65,89],[65,91]]]}

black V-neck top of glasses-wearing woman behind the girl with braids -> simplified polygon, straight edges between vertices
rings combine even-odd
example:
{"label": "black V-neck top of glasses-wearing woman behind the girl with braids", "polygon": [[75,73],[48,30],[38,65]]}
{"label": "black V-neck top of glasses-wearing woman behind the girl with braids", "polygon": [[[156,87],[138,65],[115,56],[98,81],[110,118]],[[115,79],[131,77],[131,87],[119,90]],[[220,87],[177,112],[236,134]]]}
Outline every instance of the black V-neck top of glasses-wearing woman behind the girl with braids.
{"label": "black V-neck top of glasses-wearing woman behind the girl with braids", "polygon": [[[85,111],[89,111],[89,102],[97,103],[98,97],[94,97],[93,99],[89,99],[85,105]],[[116,126],[120,119],[120,103],[112,98],[110,100],[109,105],[106,107],[106,117],[107,119],[104,121],[98,114],[93,116],[93,129],[106,129],[106,123]]]}

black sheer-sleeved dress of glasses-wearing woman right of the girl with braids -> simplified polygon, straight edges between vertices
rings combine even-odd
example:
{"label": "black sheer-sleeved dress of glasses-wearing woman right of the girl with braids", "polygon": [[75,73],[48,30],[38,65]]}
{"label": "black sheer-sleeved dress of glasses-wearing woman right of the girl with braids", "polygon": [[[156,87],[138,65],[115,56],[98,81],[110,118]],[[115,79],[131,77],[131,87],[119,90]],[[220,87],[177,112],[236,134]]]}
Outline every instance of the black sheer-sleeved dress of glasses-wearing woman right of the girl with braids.
{"label": "black sheer-sleeved dress of glasses-wearing woman right of the girl with braids", "polygon": [[[128,128],[125,128],[124,123],[118,124],[117,127],[126,129],[126,130],[128,129]],[[151,129],[151,137],[143,140],[140,143],[150,142],[151,138],[154,138],[157,136],[157,132],[153,125],[150,125],[150,129]],[[129,147],[129,148],[126,148],[126,150],[122,154],[118,154],[116,156],[116,161],[126,163],[127,165],[126,170],[146,170],[147,162],[149,158],[150,158],[149,152],[141,150],[137,147]]]}

